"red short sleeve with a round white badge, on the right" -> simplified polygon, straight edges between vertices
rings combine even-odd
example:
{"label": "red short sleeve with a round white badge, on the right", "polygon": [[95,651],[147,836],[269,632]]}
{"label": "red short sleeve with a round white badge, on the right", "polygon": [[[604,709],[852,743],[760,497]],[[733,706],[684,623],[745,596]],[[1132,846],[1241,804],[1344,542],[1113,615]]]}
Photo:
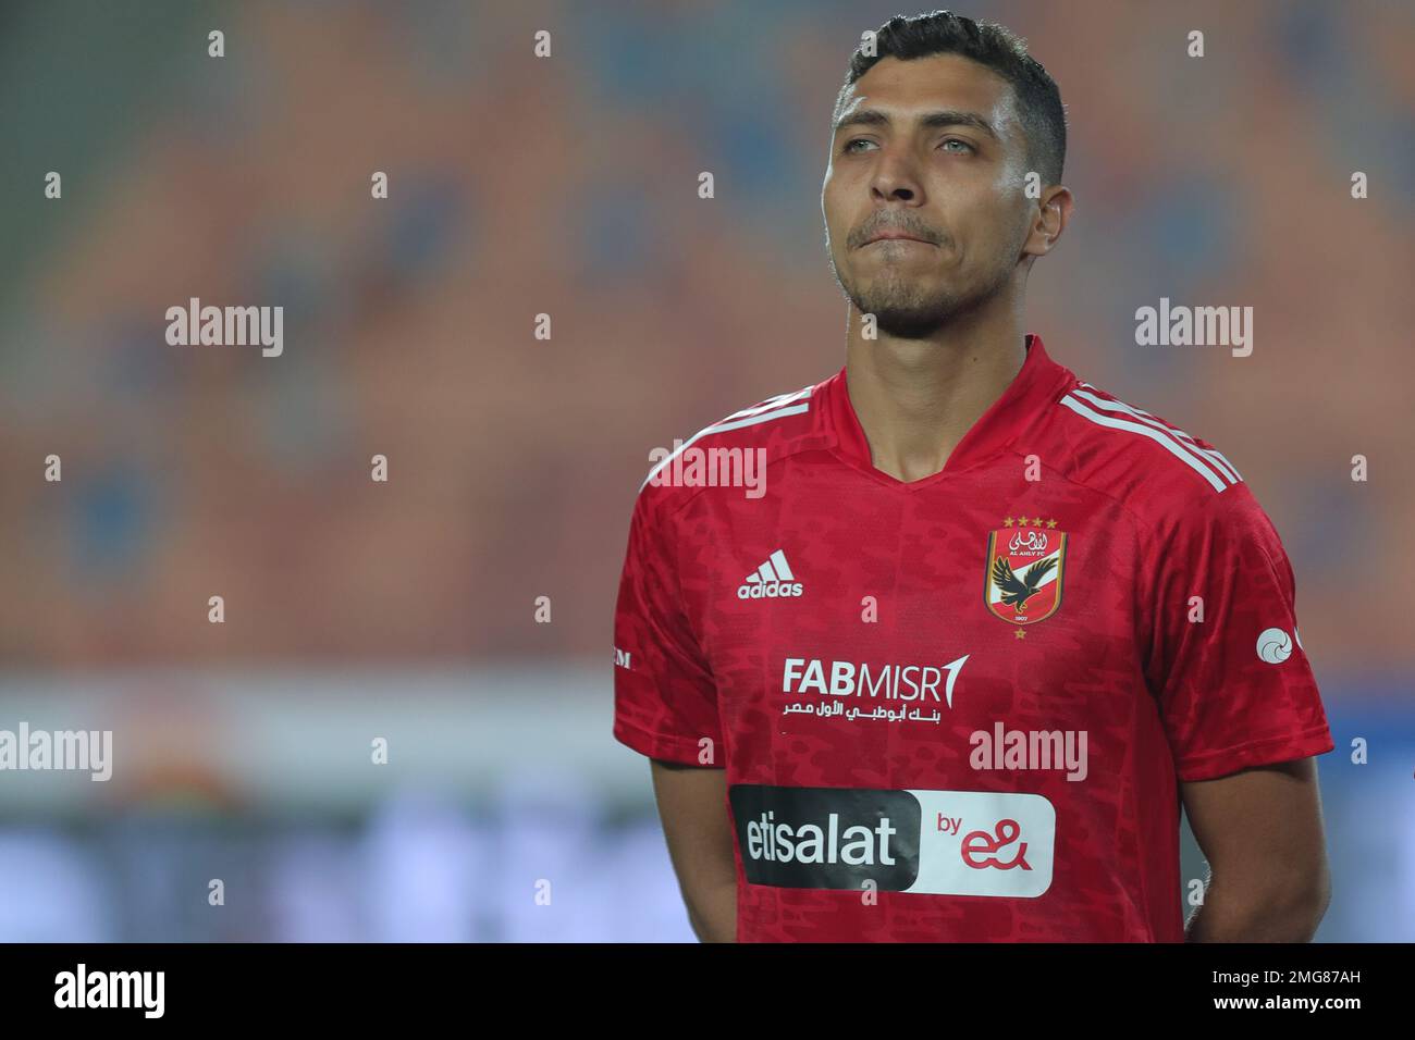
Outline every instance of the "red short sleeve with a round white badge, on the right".
{"label": "red short sleeve with a round white badge, on the right", "polygon": [[1298,632],[1292,566],[1248,485],[1196,495],[1150,552],[1146,678],[1179,778],[1333,750]]}

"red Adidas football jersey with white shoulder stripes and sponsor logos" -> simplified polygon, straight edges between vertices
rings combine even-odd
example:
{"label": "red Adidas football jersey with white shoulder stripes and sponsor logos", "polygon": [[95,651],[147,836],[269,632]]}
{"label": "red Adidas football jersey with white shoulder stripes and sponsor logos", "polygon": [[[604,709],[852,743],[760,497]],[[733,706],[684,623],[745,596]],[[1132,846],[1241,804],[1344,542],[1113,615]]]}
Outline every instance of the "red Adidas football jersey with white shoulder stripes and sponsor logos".
{"label": "red Adidas football jersey with white shoulder stripes and sponsor logos", "polygon": [[1183,941],[1179,781],[1333,750],[1278,533],[1040,338],[938,474],[842,369],[641,488],[614,736],[727,770],[737,941]]}

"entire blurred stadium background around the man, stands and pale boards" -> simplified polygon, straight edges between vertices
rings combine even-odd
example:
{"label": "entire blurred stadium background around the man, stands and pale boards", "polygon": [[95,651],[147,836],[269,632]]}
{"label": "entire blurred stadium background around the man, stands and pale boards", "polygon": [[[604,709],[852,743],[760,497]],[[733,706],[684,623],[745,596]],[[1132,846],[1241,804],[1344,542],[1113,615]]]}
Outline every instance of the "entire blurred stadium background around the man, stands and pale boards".
{"label": "entire blurred stadium background around the man, stands and pale boards", "polygon": [[[1337,743],[1319,938],[1415,938],[1415,11],[958,10],[1070,112],[1027,328],[1217,443],[1292,556]],[[0,729],[116,760],[0,773],[0,940],[692,938],[610,739],[630,508],[652,447],[842,364],[826,125],[896,13],[0,6]],[[192,296],[283,304],[284,354],[168,347]],[[1162,296],[1252,306],[1252,357],[1136,347]]]}

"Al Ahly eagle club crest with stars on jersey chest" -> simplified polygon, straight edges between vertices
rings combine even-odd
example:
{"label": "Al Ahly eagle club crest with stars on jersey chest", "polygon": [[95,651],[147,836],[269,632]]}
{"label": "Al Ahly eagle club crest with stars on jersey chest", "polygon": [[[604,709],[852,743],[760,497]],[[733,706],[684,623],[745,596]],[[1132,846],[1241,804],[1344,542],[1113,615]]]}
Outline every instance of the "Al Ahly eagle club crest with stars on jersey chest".
{"label": "Al Ahly eagle club crest with stars on jersey chest", "polygon": [[988,535],[983,603],[1012,624],[1036,624],[1061,606],[1065,572],[1065,532],[1054,519],[1013,519]]}

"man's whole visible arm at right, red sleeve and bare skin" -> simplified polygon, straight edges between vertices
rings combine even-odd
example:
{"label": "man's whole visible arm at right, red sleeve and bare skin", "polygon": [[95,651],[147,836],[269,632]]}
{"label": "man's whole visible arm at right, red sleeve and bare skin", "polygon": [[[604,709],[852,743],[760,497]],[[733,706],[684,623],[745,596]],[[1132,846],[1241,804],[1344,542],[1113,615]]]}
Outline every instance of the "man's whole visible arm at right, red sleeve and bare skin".
{"label": "man's whole visible arm at right, red sleeve and bare skin", "polygon": [[1190,935],[1307,941],[1330,893],[1312,756],[1334,741],[1292,566],[1242,483],[1177,508],[1156,550],[1146,678],[1213,872]]}

